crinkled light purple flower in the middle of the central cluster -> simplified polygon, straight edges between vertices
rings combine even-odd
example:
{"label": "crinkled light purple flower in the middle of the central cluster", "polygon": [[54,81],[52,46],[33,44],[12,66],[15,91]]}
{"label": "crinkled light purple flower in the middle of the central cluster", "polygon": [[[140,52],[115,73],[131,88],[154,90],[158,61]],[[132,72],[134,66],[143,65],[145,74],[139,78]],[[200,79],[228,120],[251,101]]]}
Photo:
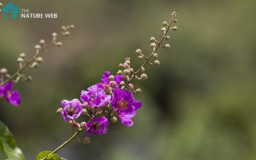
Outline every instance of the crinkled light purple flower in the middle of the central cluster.
{"label": "crinkled light purple flower in the middle of the central cluster", "polygon": [[106,95],[106,93],[98,87],[98,84],[87,88],[87,91],[81,92],[81,100],[87,102],[89,106],[99,107],[104,106],[110,102],[111,95]]}

